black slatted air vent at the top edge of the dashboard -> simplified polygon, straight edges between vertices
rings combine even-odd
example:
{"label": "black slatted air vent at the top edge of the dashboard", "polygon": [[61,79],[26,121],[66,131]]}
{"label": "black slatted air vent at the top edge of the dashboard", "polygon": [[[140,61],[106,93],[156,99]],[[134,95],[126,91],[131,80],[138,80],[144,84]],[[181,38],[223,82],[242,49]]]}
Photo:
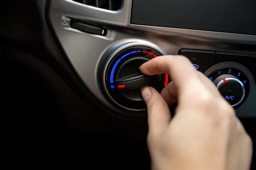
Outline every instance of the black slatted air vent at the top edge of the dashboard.
{"label": "black slatted air vent at the top edge of the dashboard", "polygon": [[122,0],[73,0],[88,6],[118,11],[122,6]]}

